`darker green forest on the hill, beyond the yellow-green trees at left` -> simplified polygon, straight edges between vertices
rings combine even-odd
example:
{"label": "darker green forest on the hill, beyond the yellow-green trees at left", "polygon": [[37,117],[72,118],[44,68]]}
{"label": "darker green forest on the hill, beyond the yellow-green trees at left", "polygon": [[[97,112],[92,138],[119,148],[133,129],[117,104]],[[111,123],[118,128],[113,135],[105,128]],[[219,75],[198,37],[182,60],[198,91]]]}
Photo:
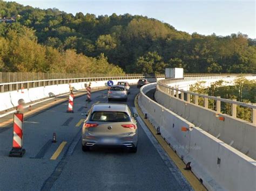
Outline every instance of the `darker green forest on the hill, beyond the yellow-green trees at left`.
{"label": "darker green forest on the hill, beyond the yellow-green trees at left", "polygon": [[[1,37],[10,40],[15,34],[6,33],[9,29],[30,28],[35,33],[31,30],[26,34],[41,45],[57,48],[62,54],[68,49],[95,58],[104,53],[127,73],[163,72],[163,67],[184,67],[188,73],[256,73],[255,39],[241,33],[226,37],[190,35],[143,16],[113,13],[96,17],[81,12],[73,16],[58,9],[0,1],[0,16],[17,15],[17,23],[0,25]],[[6,68],[3,63],[2,59],[0,67]]]}

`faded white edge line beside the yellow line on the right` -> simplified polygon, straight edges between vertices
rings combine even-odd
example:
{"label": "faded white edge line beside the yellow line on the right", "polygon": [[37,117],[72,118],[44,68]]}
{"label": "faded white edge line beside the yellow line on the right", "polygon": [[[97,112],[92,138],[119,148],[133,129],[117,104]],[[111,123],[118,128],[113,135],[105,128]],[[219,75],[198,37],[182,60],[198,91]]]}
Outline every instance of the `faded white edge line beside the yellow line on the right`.
{"label": "faded white edge line beside the yellow line on the right", "polygon": [[[138,113],[136,108],[132,107],[134,113]],[[169,158],[167,153],[165,152],[164,148],[158,143],[157,139],[152,135],[151,131],[147,128],[146,124],[143,122],[142,118],[139,116],[137,117],[137,121],[139,122],[140,126],[146,133],[147,137],[150,139],[150,142],[154,145],[159,153],[160,157],[164,160],[165,165],[169,168],[171,174],[179,183],[180,187],[183,190],[193,190],[190,186],[190,183],[187,182],[183,174],[179,171],[178,167],[174,164],[174,162]]]}

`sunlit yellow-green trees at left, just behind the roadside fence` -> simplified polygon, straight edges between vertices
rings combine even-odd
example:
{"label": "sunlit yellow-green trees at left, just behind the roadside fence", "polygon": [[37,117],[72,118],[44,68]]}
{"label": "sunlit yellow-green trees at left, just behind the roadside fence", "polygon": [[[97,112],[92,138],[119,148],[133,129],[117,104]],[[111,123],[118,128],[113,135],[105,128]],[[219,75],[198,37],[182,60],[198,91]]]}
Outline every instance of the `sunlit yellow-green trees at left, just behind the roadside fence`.
{"label": "sunlit yellow-green trees at left, just behind the roadside fence", "polygon": [[[59,73],[107,73],[120,74],[123,70],[107,62],[104,54],[90,58],[77,54],[73,48],[77,37],[66,38],[58,51],[55,47],[62,42],[48,38],[47,45],[37,43],[35,31],[18,23],[0,24],[4,35],[0,37],[0,71],[8,72],[59,72]],[[58,47],[59,48],[59,47]]]}

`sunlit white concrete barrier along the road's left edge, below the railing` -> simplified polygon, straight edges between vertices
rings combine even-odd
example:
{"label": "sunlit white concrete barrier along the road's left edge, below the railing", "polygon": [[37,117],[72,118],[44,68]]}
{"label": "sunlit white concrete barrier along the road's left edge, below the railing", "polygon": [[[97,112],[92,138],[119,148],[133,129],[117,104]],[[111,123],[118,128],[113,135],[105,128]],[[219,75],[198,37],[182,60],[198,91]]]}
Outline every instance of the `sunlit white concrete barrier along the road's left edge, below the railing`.
{"label": "sunlit white concrete barrier along the road's left edge, below the railing", "polygon": [[[118,81],[127,81],[130,84],[135,84],[139,79],[127,79],[127,80],[113,80],[114,84]],[[155,82],[156,79],[147,79],[150,82]],[[86,82],[71,83],[71,86],[75,90],[85,89]],[[87,82],[89,83],[89,82]],[[107,87],[107,80],[104,81],[92,81],[91,87]],[[9,91],[5,93],[0,93],[0,111],[8,110],[17,107],[18,100],[23,99],[25,103],[35,102],[47,97],[54,97],[60,94],[69,93],[69,84],[58,84],[45,87],[29,88],[29,89],[19,89],[18,91]]]}

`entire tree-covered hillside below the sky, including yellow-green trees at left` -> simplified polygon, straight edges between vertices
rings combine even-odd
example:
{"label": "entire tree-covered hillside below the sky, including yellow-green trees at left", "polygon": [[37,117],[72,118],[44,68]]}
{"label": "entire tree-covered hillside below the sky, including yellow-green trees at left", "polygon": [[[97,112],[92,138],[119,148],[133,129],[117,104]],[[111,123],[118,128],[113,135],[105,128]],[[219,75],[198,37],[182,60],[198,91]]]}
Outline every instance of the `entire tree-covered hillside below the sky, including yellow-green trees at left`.
{"label": "entire tree-covered hillside below the sky, including yellow-green trees at left", "polygon": [[256,73],[256,41],[245,34],[190,35],[142,16],[73,16],[0,1],[0,17],[11,16],[16,23],[0,24],[3,71]]}

